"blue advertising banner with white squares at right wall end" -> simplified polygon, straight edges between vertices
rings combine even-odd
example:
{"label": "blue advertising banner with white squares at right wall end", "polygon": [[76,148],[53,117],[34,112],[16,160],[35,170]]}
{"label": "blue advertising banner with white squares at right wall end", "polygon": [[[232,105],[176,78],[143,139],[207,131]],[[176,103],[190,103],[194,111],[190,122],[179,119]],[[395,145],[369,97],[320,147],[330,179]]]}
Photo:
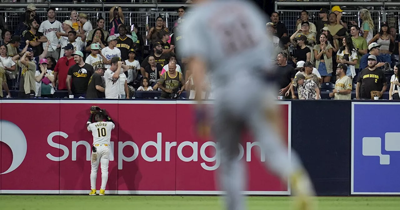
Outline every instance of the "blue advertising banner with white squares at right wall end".
{"label": "blue advertising banner with white squares at right wall end", "polygon": [[400,103],[352,102],[351,194],[400,194]]}

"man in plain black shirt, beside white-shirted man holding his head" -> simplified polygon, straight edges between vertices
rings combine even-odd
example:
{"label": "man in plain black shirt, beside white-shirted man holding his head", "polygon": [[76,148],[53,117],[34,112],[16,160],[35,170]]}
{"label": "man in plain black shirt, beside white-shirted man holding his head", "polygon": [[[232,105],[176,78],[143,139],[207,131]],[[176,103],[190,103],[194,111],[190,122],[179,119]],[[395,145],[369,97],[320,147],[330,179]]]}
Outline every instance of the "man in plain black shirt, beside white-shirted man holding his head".
{"label": "man in plain black shirt, beside white-shirted man holding his head", "polygon": [[85,98],[101,98],[105,89],[103,86],[103,78],[105,68],[96,68],[96,71],[90,77],[88,90]]}

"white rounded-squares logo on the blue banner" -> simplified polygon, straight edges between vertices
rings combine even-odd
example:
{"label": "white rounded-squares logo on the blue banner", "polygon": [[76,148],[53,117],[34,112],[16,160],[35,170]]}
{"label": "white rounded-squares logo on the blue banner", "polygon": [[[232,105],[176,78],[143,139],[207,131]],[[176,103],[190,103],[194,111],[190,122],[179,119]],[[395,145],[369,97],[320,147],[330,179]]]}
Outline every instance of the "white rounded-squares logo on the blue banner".
{"label": "white rounded-squares logo on the blue banner", "polygon": [[[362,138],[362,155],[378,156],[381,165],[390,164],[390,155],[382,154],[382,139],[379,137]],[[388,152],[400,151],[400,133],[385,133],[385,150]]]}

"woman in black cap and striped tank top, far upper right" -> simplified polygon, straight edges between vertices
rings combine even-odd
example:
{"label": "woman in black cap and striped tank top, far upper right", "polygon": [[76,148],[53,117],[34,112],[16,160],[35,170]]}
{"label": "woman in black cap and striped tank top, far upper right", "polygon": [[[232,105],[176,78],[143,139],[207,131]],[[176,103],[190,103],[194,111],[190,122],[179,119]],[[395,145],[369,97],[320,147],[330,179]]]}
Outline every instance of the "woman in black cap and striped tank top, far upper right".
{"label": "woman in black cap and striped tank top, far upper right", "polygon": [[388,62],[389,64],[392,64],[392,59],[390,58],[390,44],[394,44],[394,39],[396,37],[390,36],[389,33],[389,26],[386,22],[383,22],[380,26],[380,31],[379,34],[376,34],[368,44],[371,44],[372,42],[378,43],[380,45],[379,51],[380,51],[380,56],[384,60],[384,62]]}

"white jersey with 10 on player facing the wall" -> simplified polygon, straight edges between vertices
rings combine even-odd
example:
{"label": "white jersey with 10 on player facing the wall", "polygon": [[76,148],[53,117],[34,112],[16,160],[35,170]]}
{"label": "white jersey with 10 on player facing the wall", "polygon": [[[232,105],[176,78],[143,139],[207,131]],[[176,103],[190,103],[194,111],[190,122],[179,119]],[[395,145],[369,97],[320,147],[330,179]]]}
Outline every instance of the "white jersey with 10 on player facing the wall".
{"label": "white jersey with 10 on player facing the wall", "polygon": [[110,144],[111,131],[115,128],[113,122],[94,122],[88,125],[88,131],[92,132],[94,144]]}

